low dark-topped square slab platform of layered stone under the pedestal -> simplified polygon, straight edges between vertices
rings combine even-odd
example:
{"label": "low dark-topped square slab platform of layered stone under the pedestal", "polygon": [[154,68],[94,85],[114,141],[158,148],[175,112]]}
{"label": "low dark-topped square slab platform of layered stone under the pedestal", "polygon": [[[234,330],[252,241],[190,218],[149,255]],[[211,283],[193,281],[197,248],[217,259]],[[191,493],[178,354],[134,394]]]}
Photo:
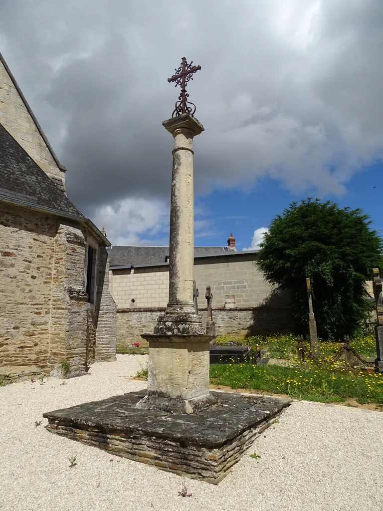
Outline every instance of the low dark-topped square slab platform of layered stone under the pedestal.
{"label": "low dark-topped square slab platform of layered stone under the pedestal", "polygon": [[179,475],[219,483],[291,401],[211,392],[194,414],[135,408],[146,391],[43,413],[48,431]]}

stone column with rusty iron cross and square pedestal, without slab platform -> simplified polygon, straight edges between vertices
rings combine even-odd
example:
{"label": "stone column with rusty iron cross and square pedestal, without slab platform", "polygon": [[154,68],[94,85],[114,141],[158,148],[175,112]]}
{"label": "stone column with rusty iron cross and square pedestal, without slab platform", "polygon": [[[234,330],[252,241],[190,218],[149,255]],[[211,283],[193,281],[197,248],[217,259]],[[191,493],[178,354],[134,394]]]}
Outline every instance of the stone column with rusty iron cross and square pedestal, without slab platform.
{"label": "stone column with rusty iron cross and square pedestal, without slab platform", "polygon": [[[192,62],[193,63],[193,62]],[[138,408],[193,413],[214,400],[209,394],[209,342],[193,300],[194,184],[193,138],[204,128],[194,117],[186,83],[201,66],[182,58],[168,79],[181,85],[172,118],[163,121],[173,135],[173,175],[170,209],[169,302],[158,317],[149,341],[148,391]],[[192,111],[193,105],[194,109]]]}

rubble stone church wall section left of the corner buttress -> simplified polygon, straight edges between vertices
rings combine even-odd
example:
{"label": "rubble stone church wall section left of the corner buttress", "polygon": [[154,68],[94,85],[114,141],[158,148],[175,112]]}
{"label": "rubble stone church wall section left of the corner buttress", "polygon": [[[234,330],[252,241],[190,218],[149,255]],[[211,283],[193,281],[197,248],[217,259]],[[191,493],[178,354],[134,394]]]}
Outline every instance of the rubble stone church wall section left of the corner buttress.
{"label": "rubble stone church wall section left of the corner buttress", "polygon": [[0,374],[47,369],[57,220],[0,203]]}

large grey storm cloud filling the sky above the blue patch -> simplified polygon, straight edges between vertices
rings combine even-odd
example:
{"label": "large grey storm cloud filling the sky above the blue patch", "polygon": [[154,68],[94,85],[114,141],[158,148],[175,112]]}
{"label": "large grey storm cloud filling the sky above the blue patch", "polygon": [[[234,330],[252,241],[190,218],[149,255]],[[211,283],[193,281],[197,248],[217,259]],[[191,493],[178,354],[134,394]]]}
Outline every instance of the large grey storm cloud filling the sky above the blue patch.
{"label": "large grey storm cloud filling the sky above the blue patch", "polygon": [[197,192],[269,175],[342,193],[382,156],[382,22],[374,0],[13,0],[0,4],[0,42],[68,167],[71,199],[136,240],[166,223],[172,141],[161,122],[183,55],[202,66],[189,84],[206,129]]}

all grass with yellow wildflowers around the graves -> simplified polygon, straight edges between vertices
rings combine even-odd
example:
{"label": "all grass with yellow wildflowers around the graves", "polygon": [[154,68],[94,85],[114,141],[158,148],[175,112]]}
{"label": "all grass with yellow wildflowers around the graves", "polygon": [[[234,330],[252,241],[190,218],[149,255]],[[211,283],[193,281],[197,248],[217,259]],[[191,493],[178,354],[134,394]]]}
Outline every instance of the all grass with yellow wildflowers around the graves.
{"label": "all grass with yellow wildflowers around the graves", "polygon": [[[217,337],[217,344],[225,345],[229,341],[229,337]],[[250,346],[252,353],[265,350],[267,357],[297,361],[297,338],[293,335],[254,336],[240,342]],[[350,344],[362,358],[373,360],[376,357],[374,335],[356,337]],[[333,357],[342,343],[320,342],[319,345],[319,360],[304,364],[293,363],[289,367],[255,365],[252,362],[210,365],[210,384],[260,393],[287,394],[295,399],[322,403],[342,403],[354,399],[361,404],[375,403],[383,406],[382,375],[369,374],[359,369],[350,371],[345,367],[343,357],[334,362]],[[308,341],[305,342],[305,349],[309,350]],[[141,367],[137,376],[145,378],[147,374],[147,369]]]}

